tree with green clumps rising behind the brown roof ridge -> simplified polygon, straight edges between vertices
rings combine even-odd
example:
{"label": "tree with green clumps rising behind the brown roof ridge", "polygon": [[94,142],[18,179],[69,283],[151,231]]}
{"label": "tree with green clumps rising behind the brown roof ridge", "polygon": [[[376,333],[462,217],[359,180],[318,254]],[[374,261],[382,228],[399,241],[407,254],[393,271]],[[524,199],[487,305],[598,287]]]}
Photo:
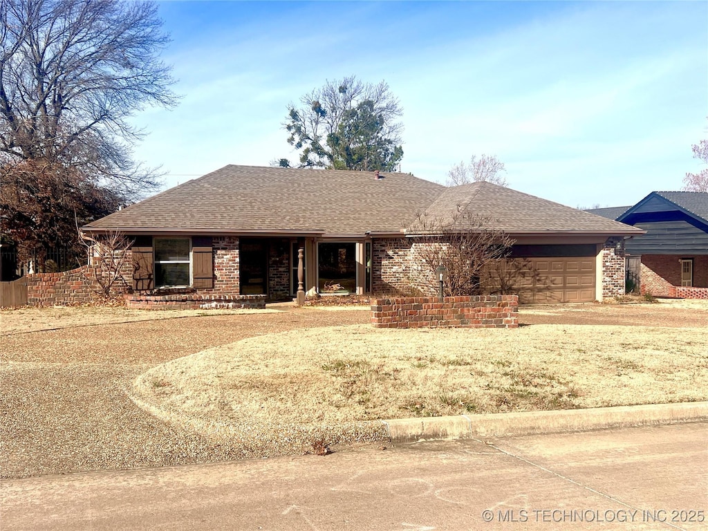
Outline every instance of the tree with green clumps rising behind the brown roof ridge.
{"label": "tree with green clumps rising behind the brown roof ridge", "polygon": [[[300,150],[301,168],[393,171],[403,157],[397,121],[403,110],[385,81],[328,80],[287,111],[287,142]],[[287,159],[276,161],[290,166]]]}

